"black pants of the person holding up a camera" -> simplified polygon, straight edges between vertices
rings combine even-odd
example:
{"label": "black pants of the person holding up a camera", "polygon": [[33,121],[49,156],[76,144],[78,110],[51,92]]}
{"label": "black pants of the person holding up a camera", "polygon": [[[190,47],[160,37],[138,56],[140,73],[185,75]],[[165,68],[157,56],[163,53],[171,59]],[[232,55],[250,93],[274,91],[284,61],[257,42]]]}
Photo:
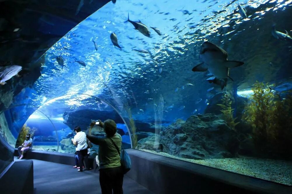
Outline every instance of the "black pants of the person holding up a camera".
{"label": "black pants of the person holding up a camera", "polygon": [[102,194],[123,194],[124,174],[121,167],[99,170],[99,183]]}

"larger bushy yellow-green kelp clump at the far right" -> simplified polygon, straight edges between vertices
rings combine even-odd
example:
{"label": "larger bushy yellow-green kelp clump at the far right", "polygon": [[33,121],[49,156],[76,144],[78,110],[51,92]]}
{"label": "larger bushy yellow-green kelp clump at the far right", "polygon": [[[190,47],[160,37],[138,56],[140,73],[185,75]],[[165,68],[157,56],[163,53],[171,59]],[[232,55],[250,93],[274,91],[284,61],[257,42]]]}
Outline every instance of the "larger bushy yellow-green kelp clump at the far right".
{"label": "larger bushy yellow-green kelp clump at the far right", "polygon": [[[268,84],[256,82],[244,120],[252,126],[252,138],[259,156],[292,157],[292,96],[271,92]],[[288,149],[287,149],[288,148]]]}

